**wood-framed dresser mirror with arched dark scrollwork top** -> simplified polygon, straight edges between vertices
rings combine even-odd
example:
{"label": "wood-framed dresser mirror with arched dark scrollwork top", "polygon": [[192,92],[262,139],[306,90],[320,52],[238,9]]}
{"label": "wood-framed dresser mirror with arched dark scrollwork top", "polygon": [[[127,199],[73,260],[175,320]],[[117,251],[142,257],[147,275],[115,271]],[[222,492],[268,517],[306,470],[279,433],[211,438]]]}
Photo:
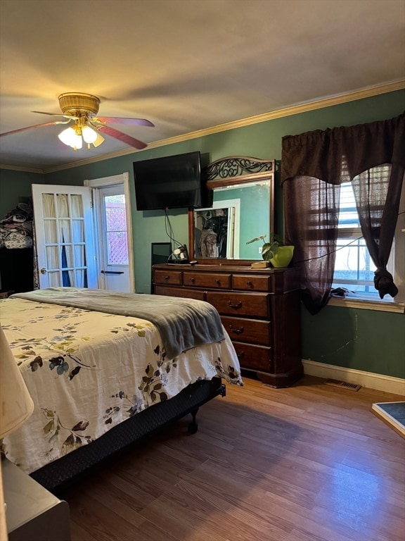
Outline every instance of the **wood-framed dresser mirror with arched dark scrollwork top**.
{"label": "wood-framed dresser mirror with arched dark scrollwork top", "polygon": [[[262,260],[274,231],[274,160],[229,156],[202,170],[213,204],[188,212],[190,258],[198,263]],[[264,241],[250,242],[257,237]]]}

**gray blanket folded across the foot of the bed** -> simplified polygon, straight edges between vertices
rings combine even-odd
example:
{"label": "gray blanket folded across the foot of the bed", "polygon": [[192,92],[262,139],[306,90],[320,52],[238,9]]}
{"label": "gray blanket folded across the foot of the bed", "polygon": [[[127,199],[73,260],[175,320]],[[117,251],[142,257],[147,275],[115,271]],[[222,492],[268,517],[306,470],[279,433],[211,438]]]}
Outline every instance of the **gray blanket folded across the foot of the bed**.
{"label": "gray blanket folded across the foot of the bed", "polygon": [[219,313],[204,301],[80,287],[49,287],[12,297],[146,319],[158,328],[169,359],[187,349],[224,340]]}

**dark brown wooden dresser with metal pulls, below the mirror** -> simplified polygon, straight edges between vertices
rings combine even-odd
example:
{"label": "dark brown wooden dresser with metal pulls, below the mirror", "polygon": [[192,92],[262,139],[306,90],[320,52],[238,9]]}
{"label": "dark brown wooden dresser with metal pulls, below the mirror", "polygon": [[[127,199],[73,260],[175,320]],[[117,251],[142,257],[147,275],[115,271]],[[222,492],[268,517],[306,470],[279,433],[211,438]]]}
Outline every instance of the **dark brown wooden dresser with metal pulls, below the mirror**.
{"label": "dark brown wooden dresser with metal pulls, below the mirror", "polygon": [[240,367],[272,387],[303,375],[298,275],[293,268],[162,264],[155,294],[210,302],[219,311]]}

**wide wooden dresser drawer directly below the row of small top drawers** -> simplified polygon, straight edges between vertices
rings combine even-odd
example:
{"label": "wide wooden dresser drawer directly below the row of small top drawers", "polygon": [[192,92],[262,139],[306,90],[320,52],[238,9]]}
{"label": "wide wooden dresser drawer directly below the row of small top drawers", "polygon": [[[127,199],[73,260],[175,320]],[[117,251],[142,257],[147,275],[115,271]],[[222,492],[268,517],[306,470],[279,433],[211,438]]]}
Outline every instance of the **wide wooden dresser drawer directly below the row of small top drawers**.
{"label": "wide wooden dresser drawer directly below the row of small top drawers", "polygon": [[268,293],[234,293],[207,291],[207,301],[215,306],[219,313],[235,316],[253,316],[269,318],[270,305]]}

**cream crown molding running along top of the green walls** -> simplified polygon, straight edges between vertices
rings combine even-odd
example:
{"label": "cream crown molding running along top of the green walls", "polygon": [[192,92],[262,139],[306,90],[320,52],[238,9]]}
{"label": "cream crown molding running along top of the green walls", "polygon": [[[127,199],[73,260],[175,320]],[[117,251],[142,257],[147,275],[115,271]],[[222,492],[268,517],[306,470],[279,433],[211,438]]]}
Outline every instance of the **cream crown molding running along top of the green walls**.
{"label": "cream crown molding running along top of the green walls", "polygon": [[[267,120],[275,120],[276,118],[283,118],[285,116],[297,115],[300,113],[307,113],[309,111],[316,111],[324,107],[331,107],[334,105],[346,104],[349,101],[356,101],[358,99],[370,98],[378,96],[379,94],[387,94],[388,92],[395,92],[405,88],[405,80],[397,80],[394,82],[387,82],[384,85],[378,85],[374,87],[366,87],[363,89],[355,90],[354,92],[347,92],[345,94],[335,94],[333,96],[317,99],[315,101],[304,101],[301,104],[295,104],[290,107],[284,107],[276,109],[275,111],[269,111],[268,113],[262,113],[261,115],[250,116],[248,118],[241,118],[240,120],[233,120],[225,124],[219,124],[210,128],[204,128],[195,132],[185,133],[183,135],[176,135],[175,137],[168,137],[167,139],[160,139],[148,144],[145,150],[155,149],[158,147],[165,147],[168,144],[180,143],[188,141],[190,139],[198,139],[198,137],[205,137],[206,135],[212,135],[214,133],[225,132],[227,130],[233,130],[235,128],[243,128],[252,124],[266,122]],[[134,149],[124,149],[110,154],[104,154],[103,156],[97,156],[95,158],[86,158],[85,160],[76,161],[75,163],[67,163],[63,166],[56,166],[41,169],[30,168],[18,168],[13,166],[0,165],[3,169],[15,169],[21,171],[27,171],[30,173],[56,173],[57,171],[71,169],[79,166],[89,165],[89,163],[96,163],[98,161],[105,161],[111,158],[119,158],[120,156],[128,156],[128,154],[138,154],[141,151],[134,151]]]}

